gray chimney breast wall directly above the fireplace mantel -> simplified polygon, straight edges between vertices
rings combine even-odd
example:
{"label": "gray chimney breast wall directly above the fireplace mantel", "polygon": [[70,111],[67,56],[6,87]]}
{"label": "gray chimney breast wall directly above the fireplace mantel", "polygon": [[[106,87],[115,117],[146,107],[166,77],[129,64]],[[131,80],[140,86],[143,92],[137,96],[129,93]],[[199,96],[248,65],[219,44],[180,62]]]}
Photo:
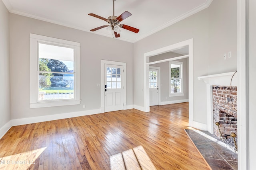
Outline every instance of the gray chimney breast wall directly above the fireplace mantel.
{"label": "gray chimney breast wall directly above the fireplace mantel", "polygon": [[[236,0],[213,0],[209,7],[208,74],[237,69]],[[231,51],[232,57],[228,58]],[[227,59],[223,55],[226,53]]]}

